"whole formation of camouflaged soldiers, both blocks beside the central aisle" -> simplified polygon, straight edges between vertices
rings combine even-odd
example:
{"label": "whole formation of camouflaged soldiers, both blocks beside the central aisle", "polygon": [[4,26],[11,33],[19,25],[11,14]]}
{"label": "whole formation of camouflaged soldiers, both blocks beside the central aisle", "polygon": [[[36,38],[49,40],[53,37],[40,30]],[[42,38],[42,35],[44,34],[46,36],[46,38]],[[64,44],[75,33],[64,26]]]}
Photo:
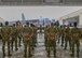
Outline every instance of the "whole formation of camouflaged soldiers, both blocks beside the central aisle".
{"label": "whole formation of camouflaged soldiers, both blocks beside the central aisle", "polygon": [[[51,56],[51,52],[53,52],[54,58],[56,57],[57,43],[60,44],[64,50],[69,49],[71,57],[74,57],[74,52],[77,52],[77,57],[79,57],[82,30],[77,27],[77,24],[70,28],[69,25],[58,26],[52,23],[43,29],[47,57]],[[0,28],[3,57],[6,55],[9,57],[12,56],[12,53],[14,50],[17,52],[22,45],[24,46],[24,57],[31,57],[37,44],[37,30],[38,27],[33,24],[26,23],[23,26],[18,20],[13,26],[9,26],[9,21],[5,21],[5,25]],[[42,32],[42,29],[40,32]],[[76,46],[77,49],[74,49]]]}

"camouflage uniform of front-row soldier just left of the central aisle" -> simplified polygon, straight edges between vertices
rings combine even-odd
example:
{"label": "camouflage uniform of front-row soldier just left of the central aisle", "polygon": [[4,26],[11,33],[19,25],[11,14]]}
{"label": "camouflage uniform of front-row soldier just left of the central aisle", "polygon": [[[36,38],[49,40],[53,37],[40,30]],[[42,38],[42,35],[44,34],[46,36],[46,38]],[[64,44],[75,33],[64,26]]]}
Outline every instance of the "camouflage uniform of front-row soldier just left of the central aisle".
{"label": "camouflage uniform of front-row soldier just left of the central aisle", "polygon": [[25,57],[27,57],[27,46],[29,47],[28,49],[28,54],[29,54],[29,57],[31,56],[31,37],[32,37],[32,28],[31,27],[24,27],[23,28],[23,40],[24,40],[24,52],[25,52]]}

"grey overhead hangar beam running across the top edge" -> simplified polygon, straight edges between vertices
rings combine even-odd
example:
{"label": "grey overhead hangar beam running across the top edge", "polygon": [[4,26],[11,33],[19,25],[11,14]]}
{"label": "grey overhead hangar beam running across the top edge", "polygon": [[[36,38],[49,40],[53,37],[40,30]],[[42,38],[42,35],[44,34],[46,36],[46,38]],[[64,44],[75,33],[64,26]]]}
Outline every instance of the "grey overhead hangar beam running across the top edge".
{"label": "grey overhead hangar beam running across the top edge", "polygon": [[0,5],[70,5],[82,4],[82,0],[0,0]]}

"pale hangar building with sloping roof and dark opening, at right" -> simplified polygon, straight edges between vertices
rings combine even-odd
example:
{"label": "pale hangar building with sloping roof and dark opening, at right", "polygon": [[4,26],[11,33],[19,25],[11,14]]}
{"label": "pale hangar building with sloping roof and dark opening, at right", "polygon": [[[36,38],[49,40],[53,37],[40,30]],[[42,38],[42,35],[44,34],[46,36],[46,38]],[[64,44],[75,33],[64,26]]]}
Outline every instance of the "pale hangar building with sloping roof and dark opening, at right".
{"label": "pale hangar building with sloping roof and dark opening, at right", "polygon": [[73,13],[70,13],[68,15],[65,15],[59,18],[60,25],[70,25],[73,26],[74,24],[78,25],[78,27],[82,27],[82,10],[76,11]]}

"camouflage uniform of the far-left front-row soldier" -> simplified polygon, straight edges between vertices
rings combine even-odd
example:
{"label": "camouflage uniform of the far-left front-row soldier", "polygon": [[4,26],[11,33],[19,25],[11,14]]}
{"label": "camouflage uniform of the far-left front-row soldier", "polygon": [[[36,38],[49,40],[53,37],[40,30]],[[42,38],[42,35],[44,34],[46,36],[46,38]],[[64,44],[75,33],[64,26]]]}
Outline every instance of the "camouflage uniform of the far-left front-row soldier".
{"label": "camouflage uniform of the far-left front-row soldier", "polygon": [[3,56],[5,56],[5,42],[8,42],[8,56],[11,56],[11,27],[5,26],[1,28],[1,37],[2,37],[2,52]]}

